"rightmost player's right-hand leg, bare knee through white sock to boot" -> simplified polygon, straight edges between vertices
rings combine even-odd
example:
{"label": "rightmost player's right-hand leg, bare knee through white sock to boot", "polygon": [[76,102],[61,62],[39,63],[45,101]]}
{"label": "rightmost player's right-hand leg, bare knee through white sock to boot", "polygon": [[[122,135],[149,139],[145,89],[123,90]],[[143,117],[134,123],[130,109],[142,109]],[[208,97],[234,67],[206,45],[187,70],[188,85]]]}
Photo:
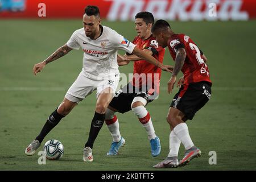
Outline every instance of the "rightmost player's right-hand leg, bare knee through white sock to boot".
{"label": "rightmost player's right-hand leg, bare knee through white sock to boot", "polygon": [[183,122],[184,117],[185,115],[179,109],[170,107],[167,121],[174,128],[174,133],[181,140],[186,150],[184,158],[179,162],[179,166],[184,166],[193,158],[201,156],[201,151],[193,144],[189,136],[188,126]]}

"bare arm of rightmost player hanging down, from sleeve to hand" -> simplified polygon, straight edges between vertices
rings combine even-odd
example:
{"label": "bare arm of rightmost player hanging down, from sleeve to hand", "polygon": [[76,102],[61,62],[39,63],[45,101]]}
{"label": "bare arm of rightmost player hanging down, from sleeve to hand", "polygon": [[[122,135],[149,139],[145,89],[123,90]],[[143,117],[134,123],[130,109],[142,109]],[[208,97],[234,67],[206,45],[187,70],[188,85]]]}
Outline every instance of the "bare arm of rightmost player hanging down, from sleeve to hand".
{"label": "bare arm of rightmost player hanging down, from sleeve to hand", "polygon": [[172,89],[174,89],[174,84],[176,82],[176,76],[180,72],[180,69],[183,67],[186,56],[187,56],[187,53],[184,48],[177,49],[175,65],[174,65],[174,72],[172,73],[172,77],[168,82],[168,93],[172,93]]}

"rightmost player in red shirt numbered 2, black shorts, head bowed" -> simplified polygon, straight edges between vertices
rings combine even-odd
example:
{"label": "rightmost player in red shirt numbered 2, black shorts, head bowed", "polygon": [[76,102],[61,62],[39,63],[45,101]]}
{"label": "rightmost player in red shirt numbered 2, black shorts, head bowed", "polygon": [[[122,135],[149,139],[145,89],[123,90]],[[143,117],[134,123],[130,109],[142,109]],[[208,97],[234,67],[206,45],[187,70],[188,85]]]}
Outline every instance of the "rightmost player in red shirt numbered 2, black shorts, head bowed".
{"label": "rightmost player in red shirt numbered 2, black shorts, head bowed", "polygon": [[[155,22],[152,34],[159,46],[168,46],[172,59],[175,60],[174,71],[168,82],[168,93],[171,93],[174,88],[177,74],[181,71],[184,75],[177,83],[180,90],[174,96],[167,115],[167,122],[171,129],[170,152],[165,160],[154,167],[184,166],[201,155],[201,151],[189,136],[185,121],[192,119],[195,113],[209,101],[212,82],[205,64],[207,58],[189,36],[175,34],[165,20]],[[180,142],[185,147],[185,156],[178,162]]]}

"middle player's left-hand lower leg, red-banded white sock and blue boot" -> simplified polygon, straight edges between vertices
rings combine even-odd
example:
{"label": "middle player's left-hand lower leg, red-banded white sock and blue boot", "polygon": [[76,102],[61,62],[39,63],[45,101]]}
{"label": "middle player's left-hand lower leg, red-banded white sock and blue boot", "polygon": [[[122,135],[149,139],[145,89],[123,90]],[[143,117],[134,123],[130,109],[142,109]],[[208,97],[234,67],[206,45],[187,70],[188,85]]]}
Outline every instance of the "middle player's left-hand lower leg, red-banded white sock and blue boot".
{"label": "middle player's left-hand lower leg, red-banded white sock and blue boot", "polygon": [[110,134],[113,137],[113,142],[107,155],[118,155],[119,149],[125,146],[126,143],[119,131],[119,122],[117,116],[115,115],[116,111],[117,110],[111,106],[108,106],[108,109],[106,109],[105,122],[108,126]]}

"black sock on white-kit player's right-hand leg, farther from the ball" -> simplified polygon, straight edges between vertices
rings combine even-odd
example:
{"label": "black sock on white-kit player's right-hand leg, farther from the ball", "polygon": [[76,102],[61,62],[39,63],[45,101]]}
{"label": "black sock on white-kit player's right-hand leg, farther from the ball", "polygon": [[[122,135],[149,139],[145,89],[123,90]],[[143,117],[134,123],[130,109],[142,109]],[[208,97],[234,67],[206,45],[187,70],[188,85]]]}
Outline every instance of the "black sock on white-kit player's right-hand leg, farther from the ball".
{"label": "black sock on white-kit player's right-hand leg, farther from the ball", "polygon": [[94,114],[94,117],[92,119],[92,124],[90,125],[90,133],[89,138],[87,142],[85,143],[84,147],[90,147],[93,148],[94,140],[97,138],[99,131],[101,130],[101,127],[104,123],[105,114]]}

